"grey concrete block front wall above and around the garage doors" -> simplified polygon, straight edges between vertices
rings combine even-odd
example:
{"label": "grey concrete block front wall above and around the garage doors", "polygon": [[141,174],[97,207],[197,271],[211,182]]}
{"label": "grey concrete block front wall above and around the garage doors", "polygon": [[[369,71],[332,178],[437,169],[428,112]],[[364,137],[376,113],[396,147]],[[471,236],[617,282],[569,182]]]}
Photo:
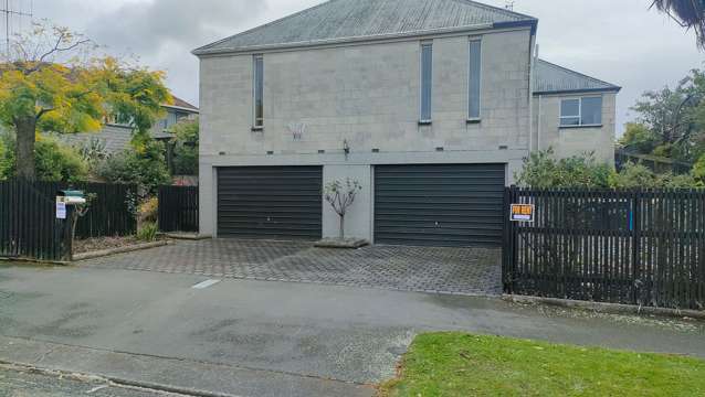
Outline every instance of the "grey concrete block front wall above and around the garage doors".
{"label": "grey concrete block front wall above and around the garage doors", "polygon": [[[480,124],[466,122],[473,36],[483,42]],[[422,40],[433,40],[431,126],[418,124]],[[324,183],[355,176],[369,189],[347,229],[364,238],[375,164],[505,163],[511,183],[528,153],[530,45],[530,31],[516,29],[265,52],[263,131],[252,131],[253,54],[201,58],[201,232],[215,232],[206,206],[218,167],[318,164]],[[337,222],[324,210],[325,236],[337,235]]]}

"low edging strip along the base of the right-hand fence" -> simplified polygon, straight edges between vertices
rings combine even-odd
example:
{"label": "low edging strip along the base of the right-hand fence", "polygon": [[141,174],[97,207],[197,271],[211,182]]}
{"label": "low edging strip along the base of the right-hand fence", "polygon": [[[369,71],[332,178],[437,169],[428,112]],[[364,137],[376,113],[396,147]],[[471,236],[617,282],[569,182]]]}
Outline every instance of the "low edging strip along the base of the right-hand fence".
{"label": "low edging strip along the base of the right-hand fence", "polygon": [[502,299],[519,304],[546,304],[567,309],[591,310],[607,314],[636,314],[636,315],[659,315],[674,319],[694,319],[705,321],[705,311],[697,310],[678,310],[666,308],[638,307],[631,304],[602,303],[576,301],[557,298],[540,298],[526,296],[503,294]]}

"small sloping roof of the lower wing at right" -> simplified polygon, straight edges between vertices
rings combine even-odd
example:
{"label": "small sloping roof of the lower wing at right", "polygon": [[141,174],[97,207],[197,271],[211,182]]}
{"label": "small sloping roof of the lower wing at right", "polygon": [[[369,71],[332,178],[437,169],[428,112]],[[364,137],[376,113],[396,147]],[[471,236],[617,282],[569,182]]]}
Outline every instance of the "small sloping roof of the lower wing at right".
{"label": "small sloping roof of the lower wing at right", "polygon": [[544,60],[534,65],[534,95],[614,92],[622,88]]}

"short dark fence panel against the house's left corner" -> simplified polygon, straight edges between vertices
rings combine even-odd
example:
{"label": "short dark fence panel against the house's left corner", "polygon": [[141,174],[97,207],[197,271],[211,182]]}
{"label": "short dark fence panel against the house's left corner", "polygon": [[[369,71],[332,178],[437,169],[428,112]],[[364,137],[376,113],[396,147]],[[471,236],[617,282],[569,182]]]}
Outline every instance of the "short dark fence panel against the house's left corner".
{"label": "short dark fence panel against the house's left corner", "polygon": [[198,232],[198,186],[159,187],[159,230]]}

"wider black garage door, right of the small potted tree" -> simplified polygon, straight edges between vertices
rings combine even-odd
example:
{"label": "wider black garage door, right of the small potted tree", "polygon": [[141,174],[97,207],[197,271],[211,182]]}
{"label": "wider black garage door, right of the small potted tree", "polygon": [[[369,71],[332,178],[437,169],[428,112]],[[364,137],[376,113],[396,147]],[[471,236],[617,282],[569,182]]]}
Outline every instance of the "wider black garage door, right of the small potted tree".
{"label": "wider black garage door, right of the small potted tree", "polygon": [[378,165],[375,242],[499,246],[504,164]]}

